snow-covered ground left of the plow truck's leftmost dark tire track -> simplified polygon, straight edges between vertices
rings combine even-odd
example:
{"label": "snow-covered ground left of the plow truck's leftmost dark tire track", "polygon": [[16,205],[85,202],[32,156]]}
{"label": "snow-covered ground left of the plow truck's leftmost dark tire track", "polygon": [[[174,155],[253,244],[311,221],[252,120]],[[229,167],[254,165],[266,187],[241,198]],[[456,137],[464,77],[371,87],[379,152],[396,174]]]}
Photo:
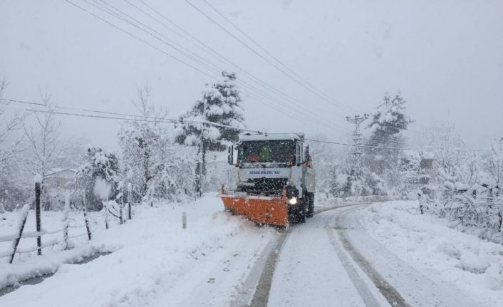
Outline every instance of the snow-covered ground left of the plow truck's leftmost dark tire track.
{"label": "snow-covered ground left of the plow truck's leftmost dark tire track", "polygon": [[[187,229],[182,229],[182,212],[187,212]],[[53,254],[12,266],[2,261],[0,271],[14,273],[51,261],[59,268],[36,286],[0,297],[0,305],[222,306],[237,295],[236,281],[247,276],[275,234],[229,216],[214,194],[192,203],[138,207],[133,220],[98,229],[90,243],[76,248],[113,251],[107,256],[86,264],[61,264]],[[0,282],[6,279],[1,274]]]}

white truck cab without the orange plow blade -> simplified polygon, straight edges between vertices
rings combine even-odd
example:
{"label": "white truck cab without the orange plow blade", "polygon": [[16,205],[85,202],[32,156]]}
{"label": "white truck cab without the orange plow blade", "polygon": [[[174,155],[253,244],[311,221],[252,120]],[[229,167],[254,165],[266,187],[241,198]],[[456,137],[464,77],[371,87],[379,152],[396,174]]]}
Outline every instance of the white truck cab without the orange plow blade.
{"label": "white truck cab without the orange plow blade", "polygon": [[235,194],[269,197],[286,188],[289,213],[312,216],[315,179],[304,133],[239,135],[229,147],[228,162],[239,167]]}

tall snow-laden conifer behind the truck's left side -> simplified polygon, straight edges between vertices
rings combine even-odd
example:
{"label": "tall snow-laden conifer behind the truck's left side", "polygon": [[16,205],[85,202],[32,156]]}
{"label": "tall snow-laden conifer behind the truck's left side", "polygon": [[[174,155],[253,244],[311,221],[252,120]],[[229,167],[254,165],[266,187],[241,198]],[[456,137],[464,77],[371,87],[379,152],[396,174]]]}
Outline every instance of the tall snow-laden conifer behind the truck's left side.
{"label": "tall snow-laden conifer behind the truck's left side", "polygon": [[[202,155],[202,172],[206,172],[207,150],[222,151],[232,142],[237,142],[239,129],[244,129],[244,111],[241,106],[239,88],[235,83],[235,73],[222,72],[222,81],[207,85],[202,93],[202,99],[197,100],[192,110],[180,117],[185,123],[177,125],[175,140],[179,144],[198,146]],[[191,123],[192,122],[192,123]],[[231,126],[203,125],[202,122]],[[196,173],[199,174],[199,162]],[[202,190],[197,178],[197,189]]]}

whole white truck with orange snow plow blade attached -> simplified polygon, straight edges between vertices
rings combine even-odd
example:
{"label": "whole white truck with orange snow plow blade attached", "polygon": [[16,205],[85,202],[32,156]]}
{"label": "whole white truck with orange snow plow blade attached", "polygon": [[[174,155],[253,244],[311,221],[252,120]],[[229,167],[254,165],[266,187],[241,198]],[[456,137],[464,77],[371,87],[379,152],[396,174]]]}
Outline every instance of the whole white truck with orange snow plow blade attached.
{"label": "whole white truck with orange snow plow blade attached", "polygon": [[246,133],[228,153],[238,182],[234,192],[222,185],[226,211],[278,227],[313,216],[314,170],[304,133]]}

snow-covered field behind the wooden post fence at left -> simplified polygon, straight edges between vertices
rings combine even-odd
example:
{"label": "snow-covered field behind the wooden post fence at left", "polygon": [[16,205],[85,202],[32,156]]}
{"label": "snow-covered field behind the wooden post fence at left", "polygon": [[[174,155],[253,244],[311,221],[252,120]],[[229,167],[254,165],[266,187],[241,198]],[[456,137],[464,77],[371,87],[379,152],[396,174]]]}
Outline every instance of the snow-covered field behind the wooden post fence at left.
{"label": "snow-covered field behind the wooden post fence at left", "polygon": [[[71,212],[69,214],[68,223],[71,228],[68,229],[69,246],[76,246],[75,249],[63,251],[63,231],[58,229],[63,228],[63,212],[42,212],[42,252],[43,256],[37,256],[36,253],[36,236],[21,238],[13,264],[9,264],[14,248],[14,239],[19,235],[21,222],[27,216],[26,224],[24,225],[23,234],[36,234],[35,212],[28,210],[29,206],[25,205],[23,209],[16,212],[5,212],[5,220],[1,222],[0,236],[0,288],[13,286],[20,281],[31,279],[33,277],[53,274],[62,264],[70,264],[82,261],[88,256],[93,256],[98,252],[113,251],[107,246],[97,246],[89,244],[85,227],[80,227],[84,223],[82,214],[79,212]],[[69,212],[70,213],[70,212]],[[98,227],[95,224],[98,221],[98,212],[93,212],[93,222],[91,227],[93,230]],[[71,221],[71,223],[70,223]],[[76,228],[76,226],[79,226]],[[51,246],[51,242],[59,242]],[[31,252],[26,252],[31,251]]]}

